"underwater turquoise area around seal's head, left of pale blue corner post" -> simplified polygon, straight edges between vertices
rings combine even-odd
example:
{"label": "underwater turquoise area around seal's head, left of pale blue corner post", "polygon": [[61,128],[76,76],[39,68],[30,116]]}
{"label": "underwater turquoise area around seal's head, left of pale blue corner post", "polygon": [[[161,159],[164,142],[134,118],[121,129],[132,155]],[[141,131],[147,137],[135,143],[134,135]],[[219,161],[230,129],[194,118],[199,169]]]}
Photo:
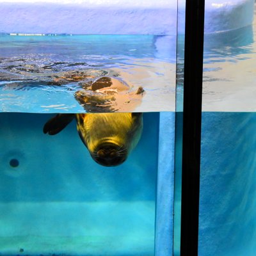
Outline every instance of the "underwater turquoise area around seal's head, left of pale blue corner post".
{"label": "underwater turquoise area around seal's head, left of pale blue corner post", "polygon": [[[1,255],[154,255],[159,113],[124,164],[95,163],[76,124],[1,113]],[[145,159],[147,158],[147,161]]]}

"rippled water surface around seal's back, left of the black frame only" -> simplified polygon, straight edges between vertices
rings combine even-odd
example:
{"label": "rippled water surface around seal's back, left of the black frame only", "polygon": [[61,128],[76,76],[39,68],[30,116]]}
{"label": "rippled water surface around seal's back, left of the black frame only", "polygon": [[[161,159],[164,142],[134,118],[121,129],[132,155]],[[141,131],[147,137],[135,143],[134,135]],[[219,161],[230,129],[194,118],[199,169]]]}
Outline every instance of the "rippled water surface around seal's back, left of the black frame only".
{"label": "rippled water surface around seal's back, left of the black frame only", "polygon": [[90,79],[52,83],[68,72],[119,77],[131,91],[142,86],[143,100],[131,111],[175,109],[175,36],[1,34],[0,44],[2,112],[86,111],[74,94]]}

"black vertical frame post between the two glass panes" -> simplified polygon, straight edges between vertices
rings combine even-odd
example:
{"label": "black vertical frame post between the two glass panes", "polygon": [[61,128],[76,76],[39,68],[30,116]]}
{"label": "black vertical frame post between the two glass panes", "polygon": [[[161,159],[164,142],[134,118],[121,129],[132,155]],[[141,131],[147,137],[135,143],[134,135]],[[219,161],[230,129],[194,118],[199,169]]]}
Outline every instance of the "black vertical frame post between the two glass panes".
{"label": "black vertical frame post between the two glass panes", "polygon": [[204,0],[186,1],[180,255],[198,255]]}

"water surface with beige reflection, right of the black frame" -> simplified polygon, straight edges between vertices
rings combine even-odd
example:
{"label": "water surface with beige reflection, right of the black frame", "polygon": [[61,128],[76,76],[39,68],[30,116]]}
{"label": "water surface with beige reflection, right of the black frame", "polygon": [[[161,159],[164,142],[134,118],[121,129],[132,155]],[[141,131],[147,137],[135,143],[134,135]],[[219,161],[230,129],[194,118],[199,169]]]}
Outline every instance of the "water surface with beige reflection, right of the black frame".
{"label": "water surface with beige reflection, right of the black frame", "polygon": [[205,35],[203,111],[256,111],[256,21]]}

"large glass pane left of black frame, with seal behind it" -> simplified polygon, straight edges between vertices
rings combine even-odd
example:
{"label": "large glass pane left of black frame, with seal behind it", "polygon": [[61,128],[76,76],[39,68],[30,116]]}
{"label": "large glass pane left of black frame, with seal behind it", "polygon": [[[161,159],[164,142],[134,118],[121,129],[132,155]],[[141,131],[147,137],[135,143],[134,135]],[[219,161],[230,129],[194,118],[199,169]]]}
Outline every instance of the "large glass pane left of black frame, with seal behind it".
{"label": "large glass pane left of black frame, with seal behind it", "polygon": [[177,7],[0,0],[0,255],[172,254]]}

